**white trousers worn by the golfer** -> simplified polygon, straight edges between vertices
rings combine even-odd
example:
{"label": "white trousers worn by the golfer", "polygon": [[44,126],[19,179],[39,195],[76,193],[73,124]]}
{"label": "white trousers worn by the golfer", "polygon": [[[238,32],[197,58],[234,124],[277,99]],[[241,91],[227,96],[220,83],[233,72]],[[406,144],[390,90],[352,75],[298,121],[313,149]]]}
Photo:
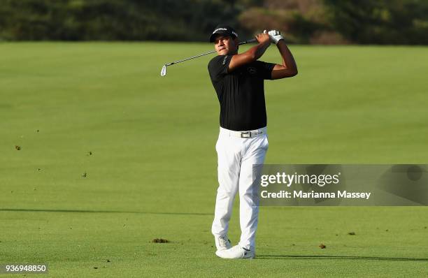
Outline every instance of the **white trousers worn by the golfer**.
{"label": "white trousers worn by the golfer", "polygon": [[219,186],[211,230],[215,237],[227,235],[232,205],[239,189],[241,240],[238,244],[246,249],[255,249],[259,207],[252,200],[252,165],[264,163],[268,147],[266,133],[252,138],[238,138],[220,127],[215,145]]}

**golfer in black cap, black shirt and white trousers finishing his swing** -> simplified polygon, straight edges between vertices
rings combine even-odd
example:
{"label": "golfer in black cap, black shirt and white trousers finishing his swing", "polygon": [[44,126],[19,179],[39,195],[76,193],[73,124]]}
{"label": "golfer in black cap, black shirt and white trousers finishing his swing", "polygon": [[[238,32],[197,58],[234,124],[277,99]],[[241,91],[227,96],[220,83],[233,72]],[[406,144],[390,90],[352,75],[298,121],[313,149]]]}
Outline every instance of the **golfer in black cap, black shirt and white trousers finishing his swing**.
{"label": "golfer in black cap, black shirt and white trousers finishing his swing", "polygon": [[[278,31],[264,31],[255,38],[257,45],[238,54],[238,34],[233,28],[219,25],[210,37],[218,54],[209,62],[208,71],[220,101],[220,134],[215,145],[219,186],[212,227],[215,254],[220,258],[255,258],[259,207],[252,200],[252,165],[264,163],[269,146],[264,80],[297,75],[296,62]],[[258,61],[271,43],[278,47],[282,64]],[[231,247],[227,231],[238,191],[241,240]]]}

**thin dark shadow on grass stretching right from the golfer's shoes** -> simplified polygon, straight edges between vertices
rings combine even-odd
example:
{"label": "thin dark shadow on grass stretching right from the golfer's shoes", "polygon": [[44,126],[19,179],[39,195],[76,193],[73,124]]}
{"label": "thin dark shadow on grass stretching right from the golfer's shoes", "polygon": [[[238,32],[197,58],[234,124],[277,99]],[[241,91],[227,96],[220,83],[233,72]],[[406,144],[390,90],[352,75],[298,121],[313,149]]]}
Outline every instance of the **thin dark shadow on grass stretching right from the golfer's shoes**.
{"label": "thin dark shadow on grass stretching right from the golfer's shoes", "polygon": [[257,255],[257,259],[289,259],[289,260],[374,260],[374,261],[424,261],[428,258],[390,258],[390,257],[365,257],[365,256],[322,256],[322,255]]}

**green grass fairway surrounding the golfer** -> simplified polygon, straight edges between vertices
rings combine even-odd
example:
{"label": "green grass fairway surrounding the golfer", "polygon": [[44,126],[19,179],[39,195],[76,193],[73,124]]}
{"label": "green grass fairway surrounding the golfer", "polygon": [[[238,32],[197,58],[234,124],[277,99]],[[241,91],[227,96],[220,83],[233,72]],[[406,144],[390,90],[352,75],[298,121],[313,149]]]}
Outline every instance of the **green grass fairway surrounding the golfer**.
{"label": "green grass fairway surrounding the golfer", "polygon": [[[427,207],[262,207],[257,259],[215,257],[213,56],[159,75],[211,49],[0,44],[0,263],[49,263],[43,277],[428,277]],[[299,75],[266,82],[266,163],[428,163],[427,47],[291,49]]]}

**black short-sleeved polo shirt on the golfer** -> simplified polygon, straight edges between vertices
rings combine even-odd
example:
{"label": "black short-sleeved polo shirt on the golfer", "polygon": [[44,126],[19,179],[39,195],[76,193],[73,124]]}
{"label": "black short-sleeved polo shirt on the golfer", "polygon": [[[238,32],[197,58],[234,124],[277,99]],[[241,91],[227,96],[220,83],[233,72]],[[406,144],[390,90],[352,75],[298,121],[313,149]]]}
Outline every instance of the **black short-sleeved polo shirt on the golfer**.
{"label": "black short-sleeved polo shirt on the golfer", "polygon": [[233,55],[219,55],[208,64],[211,82],[220,101],[220,126],[250,131],[266,126],[264,80],[271,79],[275,64],[253,61],[227,72]]}

